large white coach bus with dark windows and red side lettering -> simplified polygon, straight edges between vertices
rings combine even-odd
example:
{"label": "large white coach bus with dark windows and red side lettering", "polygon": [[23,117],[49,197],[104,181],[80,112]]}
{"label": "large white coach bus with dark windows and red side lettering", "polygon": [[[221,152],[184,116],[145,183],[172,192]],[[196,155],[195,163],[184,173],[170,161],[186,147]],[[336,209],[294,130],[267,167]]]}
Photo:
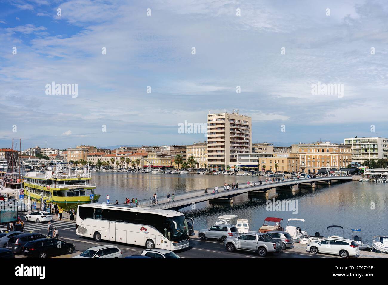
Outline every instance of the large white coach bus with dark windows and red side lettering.
{"label": "large white coach bus with dark windows and red side lettering", "polygon": [[176,211],[116,204],[85,204],[77,210],[77,235],[96,242],[178,250],[189,246],[188,231],[184,214]]}

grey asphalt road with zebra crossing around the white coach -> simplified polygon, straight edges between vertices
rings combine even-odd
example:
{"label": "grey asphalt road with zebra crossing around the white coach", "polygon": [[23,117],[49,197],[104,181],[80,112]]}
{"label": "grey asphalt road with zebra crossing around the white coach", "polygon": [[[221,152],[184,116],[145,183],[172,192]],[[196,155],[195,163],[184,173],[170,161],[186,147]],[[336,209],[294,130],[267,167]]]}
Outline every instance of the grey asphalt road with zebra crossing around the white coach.
{"label": "grey asphalt road with zebra crossing around the white coach", "polygon": [[[24,214],[19,214],[19,216],[24,219]],[[76,235],[76,224],[70,221],[59,221],[54,220],[52,222],[53,227],[57,227],[59,230],[60,238],[63,238],[69,242],[73,242],[76,247],[78,254],[84,250],[96,246],[96,245],[108,245],[113,244],[118,246],[123,251],[123,256],[128,256],[132,254],[140,254],[144,247],[136,245],[122,244],[119,242],[95,242],[91,238],[80,237]],[[47,233],[47,223],[35,223],[35,222],[26,222],[24,226],[24,231],[38,231],[40,233]],[[218,240],[206,239],[200,240],[196,237],[190,238],[190,246],[187,249],[176,251],[175,253],[182,258],[340,258],[338,256],[332,256],[327,254],[311,254],[309,252],[293,252],[291,249],[282,250],[279,253],[268,253],[266,257],[259,257],[258,254],[254,252],[246,251],[235,251],[228,252],[225,249],[225,246],[222,242]],[[72,255],[76,255],[75,253]],[[18,258],[23,258],[24,256],[17,256]],[[70,256],[59,256],[60,257],[70,257]],[[58,257],[57,257],[58,258]]]}

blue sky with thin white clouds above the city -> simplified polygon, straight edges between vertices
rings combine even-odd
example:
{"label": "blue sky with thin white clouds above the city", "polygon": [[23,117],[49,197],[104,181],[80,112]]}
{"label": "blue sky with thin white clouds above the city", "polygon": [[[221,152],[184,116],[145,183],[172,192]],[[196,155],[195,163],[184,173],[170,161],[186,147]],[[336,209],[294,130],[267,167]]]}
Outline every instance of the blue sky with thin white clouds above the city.
{"label": "blue sky with thin white clouds above the city", "polygon": [[383,0],[0,0],[0,147],[191,144],[178,125],[224,110],[254,143],[388,137],[387,19]]}

